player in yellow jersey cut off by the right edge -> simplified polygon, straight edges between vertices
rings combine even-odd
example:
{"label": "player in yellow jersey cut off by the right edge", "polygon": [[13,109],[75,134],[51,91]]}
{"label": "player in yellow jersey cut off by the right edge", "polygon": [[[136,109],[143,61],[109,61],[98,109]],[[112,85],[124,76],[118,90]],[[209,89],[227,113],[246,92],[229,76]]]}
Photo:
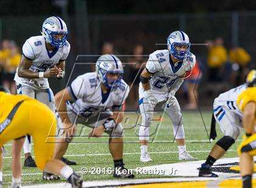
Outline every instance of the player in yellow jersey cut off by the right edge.
{"label": "player in yellow jersey cut off by the right edge", "polygon": [[254,158],[256,155],[256,70],[249,72],[247,89],[238,96],[237,106],[244,113],[243,126],[246,130],[246,139],[238,147],[240,155],[240,173],[243,178],[243,187],[252,187],[252,173],[254,173]]}

